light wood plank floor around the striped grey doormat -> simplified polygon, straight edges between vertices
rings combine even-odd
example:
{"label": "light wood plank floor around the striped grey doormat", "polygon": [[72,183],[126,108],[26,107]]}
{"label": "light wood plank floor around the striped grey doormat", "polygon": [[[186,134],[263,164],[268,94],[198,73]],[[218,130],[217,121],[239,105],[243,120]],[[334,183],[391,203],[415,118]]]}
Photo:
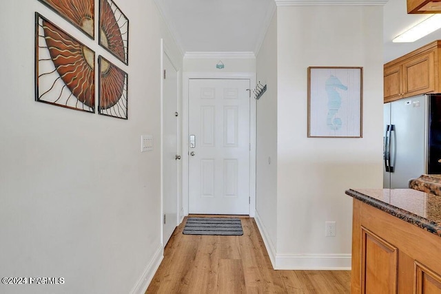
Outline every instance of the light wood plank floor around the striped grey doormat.
{"label": "light wood plank floor around the striped grey doormat", "polygon": [[243,235],[183,235],[176,228],[145,293],[350,293],[350,271],[274,271],[253,218]]}

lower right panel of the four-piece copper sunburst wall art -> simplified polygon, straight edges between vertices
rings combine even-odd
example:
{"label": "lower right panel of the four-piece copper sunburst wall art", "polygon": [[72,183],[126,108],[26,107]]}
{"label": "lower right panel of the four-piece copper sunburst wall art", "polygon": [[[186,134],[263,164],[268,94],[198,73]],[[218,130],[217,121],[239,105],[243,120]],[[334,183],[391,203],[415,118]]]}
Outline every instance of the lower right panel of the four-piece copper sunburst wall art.
{"label": "lower right panel of the four-piece copper sunburst wall art", "polygon": [[98,63],[99,114],[127,119],[127,74],[101,55]]}

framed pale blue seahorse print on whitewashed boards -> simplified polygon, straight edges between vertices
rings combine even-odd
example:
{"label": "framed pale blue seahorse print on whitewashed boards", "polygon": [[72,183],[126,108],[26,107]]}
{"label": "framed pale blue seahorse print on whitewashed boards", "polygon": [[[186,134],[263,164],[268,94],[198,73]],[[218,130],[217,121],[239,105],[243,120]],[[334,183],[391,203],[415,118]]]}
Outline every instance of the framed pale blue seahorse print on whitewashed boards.
{"label": "framed pale blue seahorse print on whitewashed boards", "polygon": [[308,137],[362,138],[363,67],[308,67]]}

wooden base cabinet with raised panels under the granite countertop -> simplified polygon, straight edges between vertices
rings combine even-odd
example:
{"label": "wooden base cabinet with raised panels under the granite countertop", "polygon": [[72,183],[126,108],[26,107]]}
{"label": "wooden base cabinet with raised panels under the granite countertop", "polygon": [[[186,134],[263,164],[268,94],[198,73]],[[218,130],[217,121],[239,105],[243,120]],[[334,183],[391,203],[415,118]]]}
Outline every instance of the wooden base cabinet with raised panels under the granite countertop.
{"label": "wooden base cabinet with raised panels under the granite countertop", "polygon": [[351,293],[441,293],[441,239],[353,200]]}

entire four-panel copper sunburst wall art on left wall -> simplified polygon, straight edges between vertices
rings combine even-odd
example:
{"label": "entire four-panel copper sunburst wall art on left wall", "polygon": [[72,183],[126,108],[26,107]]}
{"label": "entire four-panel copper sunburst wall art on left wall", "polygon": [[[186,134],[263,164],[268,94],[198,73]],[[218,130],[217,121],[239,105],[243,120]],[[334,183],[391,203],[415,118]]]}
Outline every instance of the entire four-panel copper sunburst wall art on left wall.
{"label": "entire four-panel copper sunburst wall art on left wall", "polygon": [[[127,119],[128,75],[116,64],[121,61],[127,67],[129,63],[129,19],[112,0],[38,1],[74,28],[64,21],[49,21],[35,12],[35,100],[92,113],[97,106],[99,114]],[[94,11],[98,3],[96,28]],[[63,24],[58,26],[59,23]],[[79,40],[85,40],[88,45]],[[97,51],[103,52],[98,59]],[[99,94],[97,99],[95,92]]]}

